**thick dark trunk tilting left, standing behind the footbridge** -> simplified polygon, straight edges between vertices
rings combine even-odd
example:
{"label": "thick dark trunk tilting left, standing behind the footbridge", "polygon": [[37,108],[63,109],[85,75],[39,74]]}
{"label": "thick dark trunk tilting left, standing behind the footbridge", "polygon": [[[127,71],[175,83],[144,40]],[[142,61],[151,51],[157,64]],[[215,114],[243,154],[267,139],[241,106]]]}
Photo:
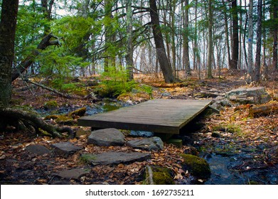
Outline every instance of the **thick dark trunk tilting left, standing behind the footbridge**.
{"label": "thick dark trunk tilting left, standing behind the footbridge", "polygon": [[164,39],[162,37],[161,28],[159,26],[159,14],[157,12],[156,0],[149,0],[151,23],[154,34],[154,43],[156,45],[156,56],[159,58],[159,65],[164,75],[166,83],[173,82],[173,72],[166,55],[164,47]]}

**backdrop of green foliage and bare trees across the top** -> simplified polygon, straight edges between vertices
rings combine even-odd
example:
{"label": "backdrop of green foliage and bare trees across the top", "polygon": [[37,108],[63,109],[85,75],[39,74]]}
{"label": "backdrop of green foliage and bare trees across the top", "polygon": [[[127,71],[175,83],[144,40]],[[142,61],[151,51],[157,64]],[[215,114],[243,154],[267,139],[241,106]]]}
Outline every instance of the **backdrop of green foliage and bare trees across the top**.
{"label": "backdrop of green foliage and bare trees across the top", "polygon": [[[238,0],[22,0],[13,68],[26,68],[27,72],[20,70],[18,75],[55,80],[58,87],[66,77],[101,74],[108,68],[162,70],[168,82],[180,70],[188,75],[190,70],[208,70],[208,77],[213,77],[211,70],[221,68],[247,70],[252,79],[259,71],[259,77],[266,78],[277,70],[277,4],[274,0],[254,4]],[[158,21],[151,16],[151,6],[156,6]],[[50,33],[55,43],[38,48]],[[30,67],[23,66],[26,59],[32,60]]]}

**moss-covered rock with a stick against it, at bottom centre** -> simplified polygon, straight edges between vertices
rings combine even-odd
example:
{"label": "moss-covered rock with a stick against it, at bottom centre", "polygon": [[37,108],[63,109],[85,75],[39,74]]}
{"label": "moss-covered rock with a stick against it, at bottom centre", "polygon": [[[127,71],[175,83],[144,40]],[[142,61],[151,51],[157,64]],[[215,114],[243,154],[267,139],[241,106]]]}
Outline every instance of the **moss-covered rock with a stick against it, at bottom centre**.
{"label": "moss-covered rock with a stick against it, at bottom centre", "polygon": [[146,166],[144,183],[154,184],[154,185],[174,185],[175,184],[169,168],[164,168],[160,166]]}

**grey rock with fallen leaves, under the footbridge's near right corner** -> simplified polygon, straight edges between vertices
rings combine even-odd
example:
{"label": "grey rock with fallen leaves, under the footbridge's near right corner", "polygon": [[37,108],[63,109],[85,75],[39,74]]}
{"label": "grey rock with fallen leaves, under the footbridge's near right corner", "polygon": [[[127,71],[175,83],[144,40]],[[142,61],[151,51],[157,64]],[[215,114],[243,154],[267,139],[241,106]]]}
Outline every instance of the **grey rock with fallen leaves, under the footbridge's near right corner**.
{"label": "grey rock with fallen leaves, under the footbridge's near right corner", "polygon": [[164,148],[161,138],[154,136],[147,139],[134,139],[127,141],[127,146],[135,149],[142,149],[146,151],[159,151]]}

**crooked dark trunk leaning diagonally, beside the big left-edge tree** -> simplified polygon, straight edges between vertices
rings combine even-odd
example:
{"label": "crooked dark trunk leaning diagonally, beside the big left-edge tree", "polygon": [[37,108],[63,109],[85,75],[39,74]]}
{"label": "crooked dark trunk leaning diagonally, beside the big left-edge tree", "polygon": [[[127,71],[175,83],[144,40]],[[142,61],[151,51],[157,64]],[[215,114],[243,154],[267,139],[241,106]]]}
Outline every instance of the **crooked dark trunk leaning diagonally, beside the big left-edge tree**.
{"label": "crooked dark trunk leaning diagonally, beside the big left-edge tree", "polygon": [[[51,40],[51,38],[56,38],[56,40]],[[58,37],[54,36],[52,33],[48,34],[48,36],[44,37],[41,42],[37,46],[37,50],[33,50],[31,55],[23,60],[16,69],[13,70],[11,74],[11,80],[14,81],[18,78],[22,72],[26,71],[28,67],[34,62],[36,57],[40,54],[39,50],[45,50],[50,45],[61,45]]]}

